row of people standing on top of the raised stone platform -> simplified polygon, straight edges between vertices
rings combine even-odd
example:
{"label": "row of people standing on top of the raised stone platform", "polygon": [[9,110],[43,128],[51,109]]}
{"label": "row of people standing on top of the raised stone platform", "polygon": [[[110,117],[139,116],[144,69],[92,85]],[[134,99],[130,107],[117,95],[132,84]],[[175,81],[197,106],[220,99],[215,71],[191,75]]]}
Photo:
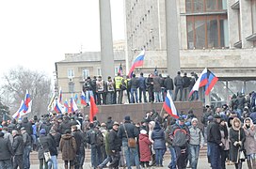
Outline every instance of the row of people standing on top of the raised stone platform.
{"label": "row of people standing on top of the raised stone platform", "polygon": [[[173,97],[173,100],[188,100],[188,93],[196,83],[198,75],[191,72],[191,77],[181,76],[181,72],[177,72],[177,76],[172,78],[167,75],[163,77],[162,74],[154,72],[148,77],[143,76],[143,72],[139,77],[133,74],[132,78],[129,76],[122,77],[120,73],[113,79],[109,76],[106,81],[102,76],[98,78],[94,76],[92,79],[88,77],[83,85],[83,91],[86,94],[88,106],[90,96],[94,97],[96,104],[121,104],[125,92],[125,101],[127,103],[138,102],[163,102],[167,92]],[[174,90],[174,95],[173,95]],[[180,93],[180,95],[178,95]],[[198,92],[196,91],[189,100],[199,100]]]}

